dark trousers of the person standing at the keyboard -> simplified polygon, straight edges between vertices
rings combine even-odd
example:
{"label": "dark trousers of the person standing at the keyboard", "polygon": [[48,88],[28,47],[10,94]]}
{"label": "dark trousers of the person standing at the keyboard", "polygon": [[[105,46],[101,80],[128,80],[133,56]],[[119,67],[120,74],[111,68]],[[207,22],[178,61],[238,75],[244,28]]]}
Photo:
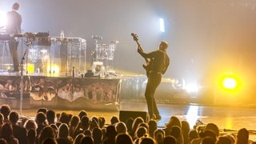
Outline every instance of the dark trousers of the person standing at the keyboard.
{"label": "dark trousers of the person standing at the keyboard", "polygon": [[13,58],[14,71],[18,71],[18,54],[17,54],[18,42],[14,39],[9,41],[10,55]]}

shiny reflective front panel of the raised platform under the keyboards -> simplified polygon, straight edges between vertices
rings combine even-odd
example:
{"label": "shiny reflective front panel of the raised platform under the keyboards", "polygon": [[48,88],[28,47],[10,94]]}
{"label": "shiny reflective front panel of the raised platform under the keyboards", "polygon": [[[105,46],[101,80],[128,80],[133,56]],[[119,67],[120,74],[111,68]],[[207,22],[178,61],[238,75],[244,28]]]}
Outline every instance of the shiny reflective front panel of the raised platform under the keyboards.
{"label": "shiny reflective front panel of the raised platform under the keyboards", "polygon": [[[19,76],[0,76],[0,102],[17,107]],[[120,103],[120,78],[57,78],[24,76],[22,97],[27,107],[67,109],[108,109]],[[10,100],[10,101],[9,101]],[[16,100],[16,101],[15,101]],[[8,101],[8,102],[7,102]],[[15,102],[15,103],[14,103]],[[25,106],[23,106],[25,108]]]}

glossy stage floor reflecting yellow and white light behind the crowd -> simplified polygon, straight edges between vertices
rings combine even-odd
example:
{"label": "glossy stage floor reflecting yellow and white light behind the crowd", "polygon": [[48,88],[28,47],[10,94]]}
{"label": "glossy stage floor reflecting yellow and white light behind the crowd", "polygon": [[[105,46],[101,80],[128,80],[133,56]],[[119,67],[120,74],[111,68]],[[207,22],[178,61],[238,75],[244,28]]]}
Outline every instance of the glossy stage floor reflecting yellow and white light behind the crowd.
{"label": "glossy stage floor reflecting yellow and white light behind the crowd", "polygon": [[[164,127],[165,123],[169,121],[169,118],[172,115],[175,115],[181,120],[188,121],[191,129],[193,129],[193,126],[198,119],[203,123],[214,122],[218,125],[221,132],[225,134],[236,133],[237,130],[246,128],[247,130],[250,130],[250,139],[256,141],[256,126],[254,124],[256,119],[255,108],[158,103],[158,109],[162,115],[162,119],[158,121],[158,128]],[[146,111],[146,102],[122,100],[120,110]],[[36,109],[22,110],[22,115],[34,118],[36,111]],[[68,114],[78,114],[78,110],[56,111],[58,113],[66,111]],[[104,116],[106,118],[106,124],[110,124],[110,118],[113,115],[119,116],[119,111],[90,110],[88,111],[88,114],[90,117]],[[224,131],[225,129],[226,131]]]}

